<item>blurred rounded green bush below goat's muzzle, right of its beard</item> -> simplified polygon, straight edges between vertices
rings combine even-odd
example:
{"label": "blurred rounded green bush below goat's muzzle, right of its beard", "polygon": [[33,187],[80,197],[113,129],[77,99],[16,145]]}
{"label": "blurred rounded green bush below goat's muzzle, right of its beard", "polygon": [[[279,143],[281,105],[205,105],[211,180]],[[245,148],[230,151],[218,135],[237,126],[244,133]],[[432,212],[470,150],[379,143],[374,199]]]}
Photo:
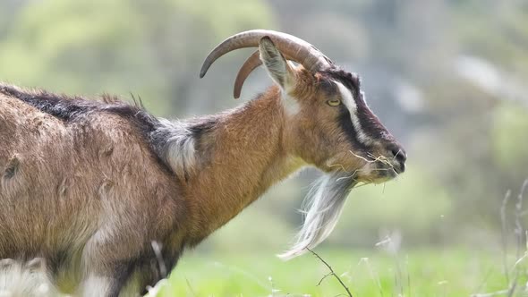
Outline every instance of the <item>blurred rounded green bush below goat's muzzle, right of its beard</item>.
{"label": "blurred rounded green bush below goat's muzzle, right of its beard", "polygon": [[405,242],[427,238],[441,231],[452,205],[438,181],[411,163],[396,181],[354,189],[330,240],[373,245],[380,229],[401,231]]}

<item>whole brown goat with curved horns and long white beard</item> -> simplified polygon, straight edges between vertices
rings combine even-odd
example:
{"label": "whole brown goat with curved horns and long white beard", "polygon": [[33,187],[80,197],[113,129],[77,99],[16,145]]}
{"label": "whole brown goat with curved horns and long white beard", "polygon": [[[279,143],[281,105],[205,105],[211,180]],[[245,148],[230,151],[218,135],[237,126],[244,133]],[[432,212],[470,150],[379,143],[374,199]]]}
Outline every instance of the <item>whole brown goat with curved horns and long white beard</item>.
{"label": "whole brown goat with curved horns and long white beard", "polygon": [[137,295],[165,277],[158,259],[172,269],[183,250],[302,167],[325,174],[283,259],[328,236],[358,182],[404,172],[405,150],[370,111],[359,77],[300,38],[236,34],[209,54],[200,77],[241,47],[259,49],[234,97],[260,64],[274,85],[243,106],[187,121],[107,95],[0,84],[0,259],[42,259],[64,293]]}

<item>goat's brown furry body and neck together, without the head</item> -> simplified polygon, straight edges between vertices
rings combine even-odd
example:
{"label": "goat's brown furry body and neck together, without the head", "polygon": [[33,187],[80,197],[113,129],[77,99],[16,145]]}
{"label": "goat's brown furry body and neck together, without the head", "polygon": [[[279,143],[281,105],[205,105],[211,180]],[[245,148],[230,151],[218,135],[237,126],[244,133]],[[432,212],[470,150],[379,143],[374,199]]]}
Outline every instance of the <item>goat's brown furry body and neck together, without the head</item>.
{"label": "goat's brown furry body and neck together, without the head", "polygon": [[[171,269],[185,246],[302,165],[279,141],[284,120],[277,96],[209,123],[188,123],[193,134],[182,137],[192,139],[193,157],[200,158],[177,177],[178,168],[152,147],[162,123],[145,131],[146,124],[97,108],[105,103],[80,98],[72,105],[90,104],[93,111],[57,115],[41,102],[49,98],[24,94],[32,93],[0,92],[0,259],[43,258],[66,292],[80,290],[79,283],[85,291],[77,292],[89,295],[118,293],[123,285],[141,291],[163,277],[159,260]],[[72,99],[55,106],[64,100]],[[161,243],[158,258],[151,242]]]}

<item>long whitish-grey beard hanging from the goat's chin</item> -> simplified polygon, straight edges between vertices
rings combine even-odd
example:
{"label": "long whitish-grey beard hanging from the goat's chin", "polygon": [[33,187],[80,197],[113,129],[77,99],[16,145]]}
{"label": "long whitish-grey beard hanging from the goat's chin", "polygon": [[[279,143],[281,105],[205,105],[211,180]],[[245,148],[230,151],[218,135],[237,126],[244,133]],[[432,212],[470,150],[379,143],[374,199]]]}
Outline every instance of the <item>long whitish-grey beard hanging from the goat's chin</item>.
{"label": "long whitish-grey beard hanging from the goat's chin", "polygon": [[326,174],[319,178],[303,201],[304,223],[290,250],[278,255],[280,259],[293,259],[324,241],[334,227],[345,199],[357,182],[345,172]]}

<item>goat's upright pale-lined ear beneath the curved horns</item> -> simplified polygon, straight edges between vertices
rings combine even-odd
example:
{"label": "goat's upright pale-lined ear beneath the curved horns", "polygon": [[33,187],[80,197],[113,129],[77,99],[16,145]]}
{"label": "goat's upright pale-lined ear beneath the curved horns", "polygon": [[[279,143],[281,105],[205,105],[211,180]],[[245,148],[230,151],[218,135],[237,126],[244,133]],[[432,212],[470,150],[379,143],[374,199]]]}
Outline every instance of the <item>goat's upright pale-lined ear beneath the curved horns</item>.
{"label": "goat's upright pale-lined ear beneath the curved horns", "polygon": [[266,67],[271,79],[286,91],[293,89],[295,85],[294,69],[271,41],[271,38],[265,36],[260,39],[259,51],[260,60]]}

